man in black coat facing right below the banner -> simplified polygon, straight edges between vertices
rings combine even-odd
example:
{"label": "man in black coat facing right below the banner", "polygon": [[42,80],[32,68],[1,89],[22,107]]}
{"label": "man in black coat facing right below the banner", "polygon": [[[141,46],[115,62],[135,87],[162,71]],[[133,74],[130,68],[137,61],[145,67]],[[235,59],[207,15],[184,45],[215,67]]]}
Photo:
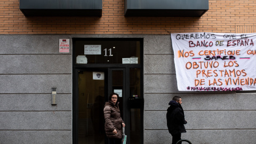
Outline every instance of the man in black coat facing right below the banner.
{"label": "man in black coat facing right below the banner", "polygon": [[187,121],[181,103],[181,98],[174,96],[172,101],[169,102],[170,107],[167,109],[167,127],[172,135],[172,144],[181,140],[181,133],[186,132],[184,124],[187,124]]}

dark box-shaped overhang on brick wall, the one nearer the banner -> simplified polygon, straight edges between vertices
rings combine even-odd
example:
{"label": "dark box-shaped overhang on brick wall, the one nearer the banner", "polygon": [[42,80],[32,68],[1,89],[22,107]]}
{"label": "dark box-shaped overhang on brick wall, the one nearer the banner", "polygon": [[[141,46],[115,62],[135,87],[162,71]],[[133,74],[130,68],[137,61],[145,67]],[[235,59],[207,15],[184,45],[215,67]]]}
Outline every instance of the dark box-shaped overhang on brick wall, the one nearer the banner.
{"label": "dark box-shaped overhang on brick wall, the one nearer the banner", "polygon": [[125,17],[201,17],[209,0],[125,0]]}

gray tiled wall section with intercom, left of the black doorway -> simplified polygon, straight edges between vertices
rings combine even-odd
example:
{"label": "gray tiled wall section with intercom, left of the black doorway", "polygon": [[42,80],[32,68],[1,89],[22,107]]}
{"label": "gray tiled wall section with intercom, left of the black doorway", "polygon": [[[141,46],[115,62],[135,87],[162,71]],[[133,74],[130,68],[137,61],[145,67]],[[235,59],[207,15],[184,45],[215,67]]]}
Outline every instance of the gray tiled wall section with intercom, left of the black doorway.
{"label": "gray tiled wall section with intercom, left of the black doorway", "polygon": [[[0,141],[71,143],[72,62],[66,35],[0,36]],[[57,88],[57,106],[51,88]]]}

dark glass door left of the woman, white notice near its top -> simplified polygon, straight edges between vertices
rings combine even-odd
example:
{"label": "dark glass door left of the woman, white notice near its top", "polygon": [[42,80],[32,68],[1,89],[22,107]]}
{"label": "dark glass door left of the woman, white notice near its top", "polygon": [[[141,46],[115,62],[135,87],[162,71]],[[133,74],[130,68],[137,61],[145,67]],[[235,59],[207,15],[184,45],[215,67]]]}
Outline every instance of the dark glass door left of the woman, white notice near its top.
{"label": "dark glass door left of the woman, white notice near its top", "polygon": [[107,69],[78,70],[78,143],[105,143],[103,108],[107,95]]}

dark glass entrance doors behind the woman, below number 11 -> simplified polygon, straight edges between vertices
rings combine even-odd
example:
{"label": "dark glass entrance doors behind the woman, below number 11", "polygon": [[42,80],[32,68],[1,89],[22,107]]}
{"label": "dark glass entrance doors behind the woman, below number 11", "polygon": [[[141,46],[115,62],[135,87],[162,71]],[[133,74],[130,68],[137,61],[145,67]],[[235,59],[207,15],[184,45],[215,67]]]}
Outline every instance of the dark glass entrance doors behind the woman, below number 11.
{"label": "dark glass entrance doors behind the woman, below number 11", "polygon": [[[81,39],[78,40],[81,43]],[[143,143],[142,66],[139,63],[76,63],[73,66],[73,143],[108,144],[103,107],[112,92],[119,94],[121,117],[126,124],[126,143]]]}

